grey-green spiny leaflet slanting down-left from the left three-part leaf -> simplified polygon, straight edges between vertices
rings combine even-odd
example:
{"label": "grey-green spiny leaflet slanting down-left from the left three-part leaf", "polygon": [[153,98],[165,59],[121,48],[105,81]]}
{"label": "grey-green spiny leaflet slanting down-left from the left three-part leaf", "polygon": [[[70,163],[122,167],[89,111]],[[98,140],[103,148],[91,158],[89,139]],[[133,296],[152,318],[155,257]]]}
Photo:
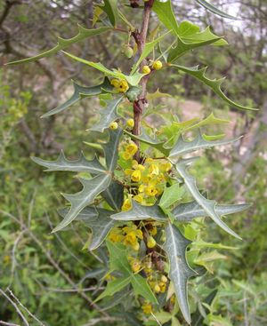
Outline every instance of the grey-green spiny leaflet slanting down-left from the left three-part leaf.
{"label": "grey-green spiny leaflet slanting down-left from the left three-part leaf", "polygon": [[109,174],[100,174],[93,179],[79,179],[84,186],[83,190],[74,195],[62,194],[71,203],[70,210],[61,223],[53,229],[53,233],[60,231],[63,227],[67,227],[78,213],[85,206],[93,203],[94,198],[101,194],[102,191],[109,187],[111,176]]}

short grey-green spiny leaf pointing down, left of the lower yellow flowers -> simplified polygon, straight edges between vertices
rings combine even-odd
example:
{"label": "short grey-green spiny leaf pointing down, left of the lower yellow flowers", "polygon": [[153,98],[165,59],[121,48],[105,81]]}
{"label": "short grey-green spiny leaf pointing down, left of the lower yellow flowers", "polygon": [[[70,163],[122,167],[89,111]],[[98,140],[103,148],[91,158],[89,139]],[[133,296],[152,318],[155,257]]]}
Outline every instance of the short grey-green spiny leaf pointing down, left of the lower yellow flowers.
{"label": "short grey-green spiny leaf pointing down, left of the lower yellow flowers", "polygon": [[85,220],[85,225],[90,227],[92,230],[89,250],[97,249],[106,239],[107,235],[109,235],[109,231],[116,223],[114,219],[110,219],[112,211],[103,210],[100,208],[97,208],[97,211],[99,214],[97,219]]}

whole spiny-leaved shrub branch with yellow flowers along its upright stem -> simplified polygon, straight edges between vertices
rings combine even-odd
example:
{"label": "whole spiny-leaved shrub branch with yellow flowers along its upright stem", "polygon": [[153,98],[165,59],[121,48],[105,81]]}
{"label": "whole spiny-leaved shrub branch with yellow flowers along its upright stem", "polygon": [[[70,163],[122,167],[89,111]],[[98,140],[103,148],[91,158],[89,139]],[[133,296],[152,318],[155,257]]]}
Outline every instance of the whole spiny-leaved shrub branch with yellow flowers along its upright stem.
{"label": "whole spiny-leaved shrub branch with yellow flowers along its upright stem", "polygon": [[[206,1],[196,2],[232,19]],[[152,14],[159,24],[153,29],[150,28]],[[127,16],[135,19],[138,15],[142,16],[141,28],[127,19]],[[125,36],[122,48],[128,72],[63,51],[71,44],[102,33]],[[135,312],[135,316],[132,315],[127,324],[134,320],[133,324],[140,324],[141,320],[147,325],[155,322],[179,325],[182,317],[190,323],[190,308],[196,312],[199,302],[194,294],[188,300],[189,279],[201,276],[201,265],[210,269],[199,258],[203,249],[223,248],[223,245],[201,240],[199,234],[205,226],[205,218],[239,238],[223,217],[247,209],[248,204],[216,203],[207,198],[206,191],[198,190],[197,180],[190,174],[190,166],[198,160],[194,155],[196,151],[239,140],[204,133],[204,129],[214,124],[228,121],[213,114],[203,120],[193,118],[184,122],[173,116],[173,121],[158,129],[146,121],[156,110],[159,112],[154,99],[163,94],[157,90],[147,92],[147,84],[151,81],[153,88],[153,79],[158,78],[159,70],[160,76],[170,70],[193,76],[231,107],[253,110],[233,102],[223,93],[223,78],[210,79],[206,68],[179,64],[180,58],[192,50],[225,44],[223,37],[214,35],[210,28],[200,30],[189,21],[178,23],[170,0],[143,3],[130,0],[130,4],[103,0],[103,4],[94,6],[92,29],[78,26],[77,36],[59,37],[53,49],[10,63],[39,60],[61,51],[70,60],[77,60],[102,74],[102,82],[97,85],[74,83],[71,98],[44,114],[44,117],[59,114],[81,99],[98,96],[105,107],[100,110],[99,122],[90,130],[107,134],[108,141],[98,146],[102,154],[88,160],[82,153],[77,160],[69,161],[62,152],[56,161],[36,157],[33,160],[46,171],[78,173],[83,188],[77,194],[63,195],[69,205],[59,211],[62,220],[53,232],[65,229],[73,221],[91,228],[89,250],[101,247],[102,254],[106,253],[109,258],[101,274],[105,276],[106,289],[94,299],[93,306],[99,309],[98,301],[103,307],[108,305],[106,302],[109,306],[128,305],[128,311]],[[166,112],[166,108],[164,110]],[[112,305],[110,297],[114,301]],[[199,310],[196,325],[206,316],[205,309]],[[129,316],[130,313],[125,318]]]}

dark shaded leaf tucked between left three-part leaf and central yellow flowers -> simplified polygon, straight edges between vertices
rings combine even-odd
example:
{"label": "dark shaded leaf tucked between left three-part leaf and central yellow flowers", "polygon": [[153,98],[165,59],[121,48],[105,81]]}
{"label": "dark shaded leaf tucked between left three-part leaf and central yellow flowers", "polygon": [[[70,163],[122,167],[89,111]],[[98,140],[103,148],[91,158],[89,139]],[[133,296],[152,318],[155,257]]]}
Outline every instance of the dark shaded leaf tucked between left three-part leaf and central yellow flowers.
{"label": "dark shaded leaf tucked between left three-part leaf and central yellow flowers", "polygon": [[109,187],[101,193],[109,206],[115,211],[120,211],[124,202],[124,187],[112,180]]}

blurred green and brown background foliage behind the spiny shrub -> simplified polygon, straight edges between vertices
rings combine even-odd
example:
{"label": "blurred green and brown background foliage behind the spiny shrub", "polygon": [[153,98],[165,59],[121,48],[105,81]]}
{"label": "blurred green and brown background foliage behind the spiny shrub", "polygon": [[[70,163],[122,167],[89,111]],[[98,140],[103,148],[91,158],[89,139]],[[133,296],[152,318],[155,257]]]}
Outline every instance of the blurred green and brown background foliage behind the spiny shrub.
{"label": "blurred green and brown background foliage behind the spiny shrub", "polygon": [[[208,325],[263,326],[267,324],[267,1],[216,0],[214,4],[241,20],[222,20],[193,1],[174,2],[178,20],[211,25],[230,44],[223,49],[192,52],[182,64],[210,66],[208,76],[227,76],[223,86],[231,99],[261,110],[236,111],[202,84],[172,71],[158,73],[149,90],[174,95],[174,99],[157,99],[155,105],[165,105],[181,120],[213,111],[231,120],[224,131],[228,136],[245,135],[234,147],[206,151],[206,157],[194,168],[198,179],[201,176],[203,185],[222,203],[254,203],[230,221],[243,242],[206,223],[204,240],[238,247],[218,249],[224,256],[220,259],[204,258],[205,266],[214,270],[206,275],[206,282],[218,289],[208,306]],[[76,35],[77,23],[91,28],[92,19],[91,1],[1,1],[0,62],[4,65],[51,48],[56,36]],[[140,14],[133,19],[138,24]],[[156,27],[157,21],[152,25]],[[74,45],[71,52],[123,70],[130,67],[121,53],[125,42],[119,34],[105,34]],[[72,188],[77,190],[77,181],[64,173],[45,174],[29,159],[30,155],[53,159],[61,148],[69,157],[77,157],[81,149],[91,155],[84,142],[99,136],[85,130],[97,118],[96,99],[85,99],[63,115],[39,117],[71,94],[71,78],[93,85],[101,76],[90,68],[81,69],[61,53],[49,60],[4,67],[0,76],[0,321],[20,324],[22,319],[15,309],[19,306],[30,325],[40,324],[36,317],[45,325],[138,324],[130,312],[126,321],[120,321],[116,306],[104,315],[90,306],[93,293],[101,289],[102,281],[97,282],[102,276],[101,251],[95,257],[89,254],[89,232],[78,224],[50,235],[60,219],[56,212],[63,203],[60,189],[68,189],[68,193]],[[159,125],[158,115],[149,123]],[[205,294],[198,279],[191,286]],[[207,314],[205,305],[199,308]],[[197,322],[195,325],[202,324]]]}

